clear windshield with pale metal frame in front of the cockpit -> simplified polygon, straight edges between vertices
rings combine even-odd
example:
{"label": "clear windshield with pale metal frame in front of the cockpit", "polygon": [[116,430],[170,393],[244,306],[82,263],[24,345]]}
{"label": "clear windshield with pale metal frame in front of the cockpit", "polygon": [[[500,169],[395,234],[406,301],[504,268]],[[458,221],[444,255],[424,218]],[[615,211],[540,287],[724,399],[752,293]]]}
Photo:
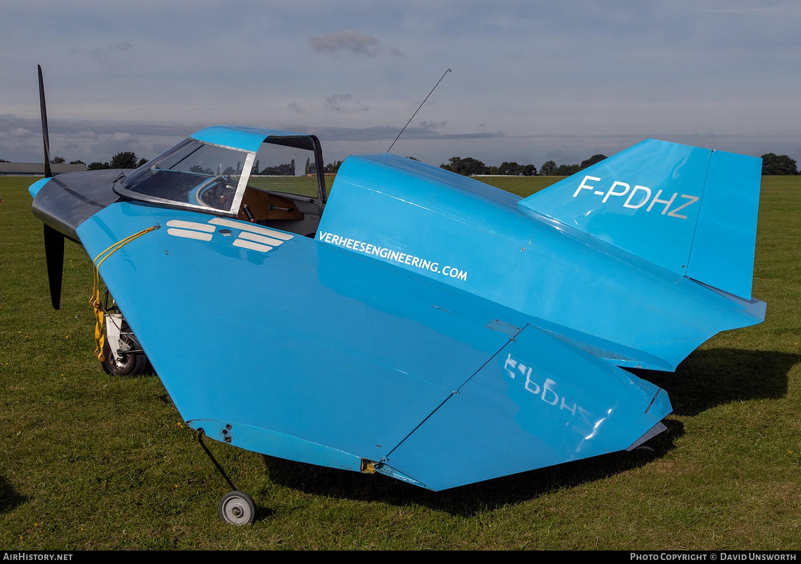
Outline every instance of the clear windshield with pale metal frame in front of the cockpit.
{"label": "clear windshield with pale metal frame in front of the cockpit", "polygon": [[187,139],[137,168],[121,187],[152,199],[231,211],[247,151]]}

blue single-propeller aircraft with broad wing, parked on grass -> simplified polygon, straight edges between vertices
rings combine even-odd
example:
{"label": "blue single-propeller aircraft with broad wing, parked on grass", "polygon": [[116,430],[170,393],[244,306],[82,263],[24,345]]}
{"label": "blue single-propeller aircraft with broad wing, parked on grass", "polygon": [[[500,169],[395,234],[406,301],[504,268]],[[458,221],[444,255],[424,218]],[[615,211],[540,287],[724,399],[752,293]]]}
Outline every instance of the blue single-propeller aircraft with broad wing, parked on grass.
{"label": "blue single-propeller aircraft with broad wing, parked on grass", "polygon": [[634,449],[672,407],[626,369],[764,320],[760,159],[647,139],[524,199],[391,154],[327,195],[322,165],[314,135],[206,127],[39,180],[54,306],[67,237],[113,296],[107,370],[147,355],[199,436],[433,490]]}

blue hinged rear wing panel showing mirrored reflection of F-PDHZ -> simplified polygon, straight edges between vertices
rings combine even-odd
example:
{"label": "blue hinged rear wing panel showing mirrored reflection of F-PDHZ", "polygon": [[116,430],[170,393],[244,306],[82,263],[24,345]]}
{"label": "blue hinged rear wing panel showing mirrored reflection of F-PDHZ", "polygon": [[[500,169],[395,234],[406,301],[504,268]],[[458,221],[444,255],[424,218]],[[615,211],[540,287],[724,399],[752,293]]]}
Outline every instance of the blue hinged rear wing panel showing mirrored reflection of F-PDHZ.
{"label": "blue hinged rear wing panel showing mirrored reflection of F-PDHZ", "polygon": [[629,449],[672,410],[658,386],[529,325],[386,464],[448,489]]}

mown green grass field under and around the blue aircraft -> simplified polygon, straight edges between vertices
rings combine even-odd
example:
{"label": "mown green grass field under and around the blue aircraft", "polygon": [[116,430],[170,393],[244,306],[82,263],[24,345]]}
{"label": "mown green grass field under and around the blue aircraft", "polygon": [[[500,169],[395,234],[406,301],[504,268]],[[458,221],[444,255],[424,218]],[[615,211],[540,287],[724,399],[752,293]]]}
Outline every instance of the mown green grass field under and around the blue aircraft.
{"label": "mown green grass field under and around the blue aircraft", "polygon": [[[519,195],[557,179],[485,178]],[[91,263],[69,241],[50,307],[33,180],[0,179],[3,549],[799,549],[801,177],[763,177],[753,293],[766,321],[645,374],[675,409],[653,452],[436,494],[208,441],[260,508],[246,527],[220,521],[227,486],[158,377],[100,369]]]}

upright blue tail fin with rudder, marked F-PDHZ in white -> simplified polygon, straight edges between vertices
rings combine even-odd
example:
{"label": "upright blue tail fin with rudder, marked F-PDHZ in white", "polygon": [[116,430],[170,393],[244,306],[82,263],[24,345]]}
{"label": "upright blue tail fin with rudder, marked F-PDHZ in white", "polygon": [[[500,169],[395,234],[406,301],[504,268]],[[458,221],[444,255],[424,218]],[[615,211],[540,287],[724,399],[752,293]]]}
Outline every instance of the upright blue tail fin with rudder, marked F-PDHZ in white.
{"label": "upright blue tail fin with rudder, marked F-PDHZ in white", "polygon": [[748,300],[761,171],[755,157],[646,139],[517,206]]}

